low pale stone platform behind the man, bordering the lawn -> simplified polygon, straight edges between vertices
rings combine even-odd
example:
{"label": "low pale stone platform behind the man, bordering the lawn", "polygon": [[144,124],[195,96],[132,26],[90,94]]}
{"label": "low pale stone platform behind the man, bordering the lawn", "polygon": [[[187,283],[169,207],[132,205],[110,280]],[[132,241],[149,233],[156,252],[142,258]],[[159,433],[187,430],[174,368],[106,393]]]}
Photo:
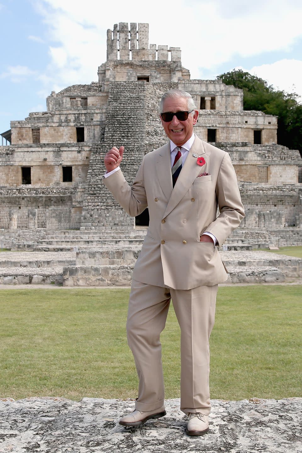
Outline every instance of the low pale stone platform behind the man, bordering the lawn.
{"label": "low pale stone platform behind the man, bordering the lawn", "polygon": [[[129,286],[141,246],[105,244],[80,251],[0,253],[0,284]],[[302,259],[266,251],[220,251],[226,283],[282,283],[302,277]]]}

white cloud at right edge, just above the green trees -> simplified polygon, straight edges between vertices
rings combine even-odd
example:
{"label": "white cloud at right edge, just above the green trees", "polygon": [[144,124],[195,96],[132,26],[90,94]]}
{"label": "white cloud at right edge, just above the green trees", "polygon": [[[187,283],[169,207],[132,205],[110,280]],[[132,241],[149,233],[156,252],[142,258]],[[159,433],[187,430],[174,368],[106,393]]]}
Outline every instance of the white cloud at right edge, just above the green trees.
{"label": "white cloud at right edge, just above the green trees", "polygon": [[[271,64],[263,64],[254,66],[250,69],[236,67],[250,74],[261,77],[267,80],[269,85],[274,88],[288,93],[296,92],[302,96],[302,61],[301,60],[279,60]],[[289,77],[290,74],[290,77]]]}

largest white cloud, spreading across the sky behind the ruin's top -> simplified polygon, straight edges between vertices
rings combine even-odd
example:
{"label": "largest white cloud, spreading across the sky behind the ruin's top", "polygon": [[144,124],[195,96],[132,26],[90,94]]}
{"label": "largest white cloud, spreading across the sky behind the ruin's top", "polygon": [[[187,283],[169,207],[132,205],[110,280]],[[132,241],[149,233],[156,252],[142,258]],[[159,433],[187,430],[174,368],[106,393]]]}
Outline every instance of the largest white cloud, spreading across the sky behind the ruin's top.
{"label": "largest white cloud, spreading across the sky behind the ruin's top", "polygon": [[[147,22],[149,43],[180,47],[191,78],[202,78],[205,69],[216,74],[236,56],[286,52],[302,37],[302,5],[295,0],[253,0],[252,5],[246,0],[174,0],[173,7],[161,0],[152,5],[86,0],[85,7],[82,0],[35,0],[33,5],[45,24],[49,64],[32,76],[42,82],[40,92],[48,94],[97,80],[97,67],[106,60],[106,30],[119,21]],[[290,73],[288,83],[294,83]]]}

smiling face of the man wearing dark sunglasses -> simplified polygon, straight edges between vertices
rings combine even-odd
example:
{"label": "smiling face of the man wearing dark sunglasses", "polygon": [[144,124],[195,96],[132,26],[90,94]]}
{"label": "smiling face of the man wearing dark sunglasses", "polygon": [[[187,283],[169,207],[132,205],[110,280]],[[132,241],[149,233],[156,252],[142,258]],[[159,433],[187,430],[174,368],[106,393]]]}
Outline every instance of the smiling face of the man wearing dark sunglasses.
{"label": "smiling face of the man wearing dark sunglasses", "polygon": [[[163,112],[175,113],[177,111],[188,111],[186,98],[178,97],[177,99],[173,99],[169,97],[163,101]],[[165,122],[160,117],[167,137],[177,146],[182,146],[189,140],[193,132],[193,125],[197,123],[197,118],[198,110],[194,111],[194,116],[189,114],[185,121],[177,120],[176,116],[173,116],[171,121]]]}

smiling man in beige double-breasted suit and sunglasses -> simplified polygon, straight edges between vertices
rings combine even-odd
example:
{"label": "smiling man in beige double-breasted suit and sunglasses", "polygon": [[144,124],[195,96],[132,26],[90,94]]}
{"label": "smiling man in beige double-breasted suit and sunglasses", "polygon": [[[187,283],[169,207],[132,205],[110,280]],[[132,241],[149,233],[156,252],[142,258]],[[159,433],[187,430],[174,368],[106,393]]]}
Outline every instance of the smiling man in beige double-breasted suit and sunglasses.
{"label": "smiling man in beige double-breasted suit and sunglasses", "polygon": [[[181,410],[187,434],[209,430],[209,337],[218,283],[227,279],[216,244],[244,217],[229,155],[193,133],[198,110],[192,96],[170,90],[160,104],[168,144],[144,156],[134,183],[119,165],[124,146],[105,155],[106,187],[130,216],[148,206],[150,224],[134,266],[127,337],[139,376],[133,413],[123,426],[166,414],[159,335],[170,300],[181,328]],[[217,205],[220,215],[216,218]]]}

